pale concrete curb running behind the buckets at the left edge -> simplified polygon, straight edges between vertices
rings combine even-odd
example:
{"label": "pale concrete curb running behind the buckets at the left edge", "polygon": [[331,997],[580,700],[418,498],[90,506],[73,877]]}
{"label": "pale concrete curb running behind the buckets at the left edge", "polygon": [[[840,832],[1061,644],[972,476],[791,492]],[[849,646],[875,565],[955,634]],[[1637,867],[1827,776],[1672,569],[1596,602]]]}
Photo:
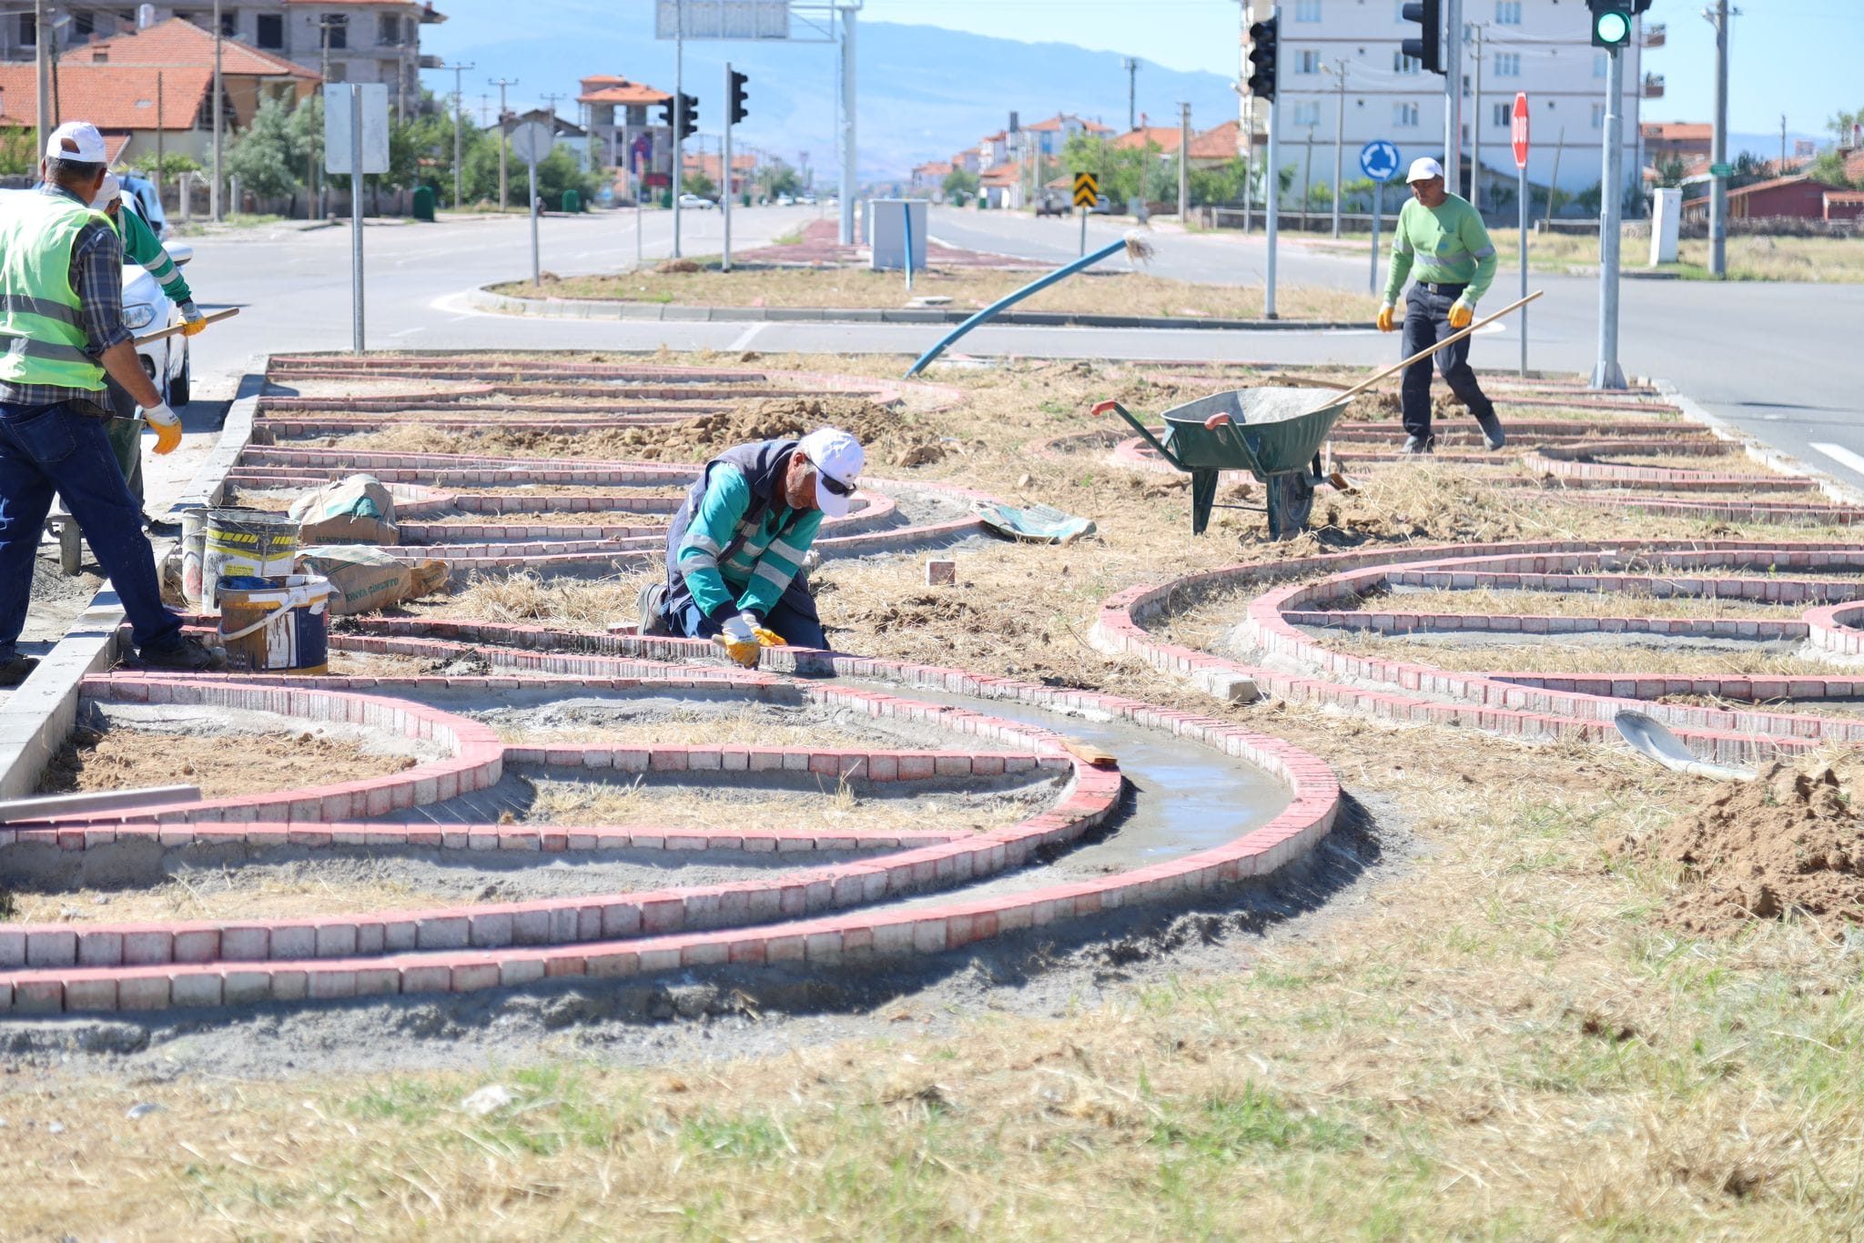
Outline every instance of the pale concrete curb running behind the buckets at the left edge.
{"label": "pale concrete curb running behind the buckets at the left edge", "polygon": [[[240,376],[237,397],[220,427],[220,442],[188,481],[181,499],[168,509],[170,516],[179,518],[183,511],[211,505],[218,498],[220,481],[252,438],[263,388],[263,369]],[[32,676],[0,704],[0,798],[32,794],[45,764],[78,721],[78,684],[110,667],[121,626],[123,606],[116,591],[104,587]]]}

